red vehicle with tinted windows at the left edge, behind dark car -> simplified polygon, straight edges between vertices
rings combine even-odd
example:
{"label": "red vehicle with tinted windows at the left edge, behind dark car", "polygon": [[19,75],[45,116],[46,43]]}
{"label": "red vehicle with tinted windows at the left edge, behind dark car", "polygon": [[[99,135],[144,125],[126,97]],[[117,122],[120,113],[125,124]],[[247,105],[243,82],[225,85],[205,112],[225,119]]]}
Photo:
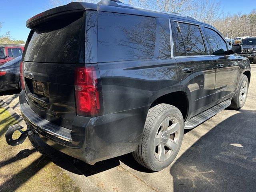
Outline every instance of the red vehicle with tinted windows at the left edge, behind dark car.
{"label": "red vehicle with tinted windows at the left edge, behind dark car", "polygon": [[22,55],[24,45],[0,45],[0,65]]}

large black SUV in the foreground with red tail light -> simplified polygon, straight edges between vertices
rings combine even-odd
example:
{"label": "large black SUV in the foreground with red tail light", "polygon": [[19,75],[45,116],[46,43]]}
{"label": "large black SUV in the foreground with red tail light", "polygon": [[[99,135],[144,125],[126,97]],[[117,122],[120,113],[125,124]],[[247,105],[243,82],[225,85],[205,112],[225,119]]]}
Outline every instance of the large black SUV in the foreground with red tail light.
{"label": "large black SUV in the foreground with red tail light", "polygon": [[224,108],[240,109],[250,64],[212,26],[177,13],[102,0],[40,13],[22,62],[28,131],[88,164],[132,152],[150,170],[176,157],[184,135]]}

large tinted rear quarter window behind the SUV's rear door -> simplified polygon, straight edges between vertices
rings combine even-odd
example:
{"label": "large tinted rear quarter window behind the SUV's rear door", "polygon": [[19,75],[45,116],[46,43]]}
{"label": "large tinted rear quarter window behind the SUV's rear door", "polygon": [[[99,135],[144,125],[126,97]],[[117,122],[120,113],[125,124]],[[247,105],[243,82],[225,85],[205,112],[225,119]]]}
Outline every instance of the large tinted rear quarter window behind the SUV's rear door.
{"label": "large tinted rear quarter window behind the SUV's rear door", "polygon": [[150,59],[155,39],[155,18],[99,12],[98,62]]}

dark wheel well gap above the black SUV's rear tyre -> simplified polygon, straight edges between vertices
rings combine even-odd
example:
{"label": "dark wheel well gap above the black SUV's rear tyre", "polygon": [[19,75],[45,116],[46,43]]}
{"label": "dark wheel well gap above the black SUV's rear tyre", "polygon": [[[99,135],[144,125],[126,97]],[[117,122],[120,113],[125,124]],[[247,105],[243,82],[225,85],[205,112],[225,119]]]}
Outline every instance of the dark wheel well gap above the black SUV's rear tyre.
{"label": "dark wheel well gap above the black SUV's rear tyre", "polygon": [[162,95],[154,100],[150,105],[150,108],[160,104],[166,103],[177,107],[182,113],[184,121],[188,116],[188,96],[186,92],[177,91]]}

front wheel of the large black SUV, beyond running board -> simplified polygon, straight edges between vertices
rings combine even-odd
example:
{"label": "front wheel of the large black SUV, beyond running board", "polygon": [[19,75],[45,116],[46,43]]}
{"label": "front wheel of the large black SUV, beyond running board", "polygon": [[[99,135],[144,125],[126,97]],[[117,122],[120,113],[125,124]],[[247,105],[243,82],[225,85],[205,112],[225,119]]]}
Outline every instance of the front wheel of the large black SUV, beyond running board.
{"label": "front wheel of the large black SUV, beyond running board", "polygon": [[247,98],[248,86],[249,82],[247,76],[241,75],[238,89],[231,100],[230,108],[238,110],[244,106]]}

